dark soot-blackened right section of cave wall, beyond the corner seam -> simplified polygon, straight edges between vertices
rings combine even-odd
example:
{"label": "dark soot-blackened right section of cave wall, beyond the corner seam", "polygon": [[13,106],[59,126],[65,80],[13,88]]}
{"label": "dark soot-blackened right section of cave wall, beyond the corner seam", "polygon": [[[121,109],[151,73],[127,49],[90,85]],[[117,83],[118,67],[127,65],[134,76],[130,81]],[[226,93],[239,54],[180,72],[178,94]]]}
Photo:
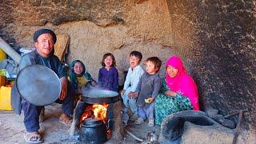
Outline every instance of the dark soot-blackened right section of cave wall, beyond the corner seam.
{"label": "dark soot-blackened right section of cave wall, beyond the corner seam", "polygon": [[191,60],[204,109],[249,109],[256,122],[256,6],[249,1],[167,1],[174,47]]}

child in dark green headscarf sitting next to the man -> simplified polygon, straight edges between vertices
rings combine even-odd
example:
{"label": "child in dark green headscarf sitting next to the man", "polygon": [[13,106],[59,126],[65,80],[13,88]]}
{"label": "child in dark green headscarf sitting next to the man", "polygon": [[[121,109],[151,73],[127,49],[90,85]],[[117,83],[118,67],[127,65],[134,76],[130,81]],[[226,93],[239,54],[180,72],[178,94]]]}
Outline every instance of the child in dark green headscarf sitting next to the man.
{"label": "child in dark green headscarf sitting next to the man", "polygon": [[75,60],[70,64],[70,74],[68,76],[69,82],[74,86],[76,100],[74,102],[74,106],[76,102],[81,98],[82,91],[86,88],[87,84],[91,84],[95,86],[96,83],[93,78],[91,78],[90,74],[86,71],[86,66],[79,60]]}

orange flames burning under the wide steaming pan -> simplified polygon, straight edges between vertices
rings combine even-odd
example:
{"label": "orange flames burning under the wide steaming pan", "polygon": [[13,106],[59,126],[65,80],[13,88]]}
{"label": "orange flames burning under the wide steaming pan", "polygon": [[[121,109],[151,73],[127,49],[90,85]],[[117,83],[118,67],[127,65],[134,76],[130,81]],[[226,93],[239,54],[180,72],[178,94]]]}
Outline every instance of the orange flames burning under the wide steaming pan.
{"label": "orange flames burning under the wide steaming pan", "polygon": [[93,105],[93,111],[94,111],[94,117],[95,118],[101,118],[103,122],[106,122],[106,110],[107,110],[108,104],[94,104]]}

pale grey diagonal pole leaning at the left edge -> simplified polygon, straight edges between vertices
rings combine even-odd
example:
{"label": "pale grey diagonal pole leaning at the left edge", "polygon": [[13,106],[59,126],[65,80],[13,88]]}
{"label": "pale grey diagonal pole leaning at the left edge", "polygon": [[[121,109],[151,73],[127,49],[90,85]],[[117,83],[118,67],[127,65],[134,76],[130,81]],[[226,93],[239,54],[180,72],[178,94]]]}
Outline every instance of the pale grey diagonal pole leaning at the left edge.
{"label": "pale grey diagonal pole leaning at the left edge", "polygon": [[0,37],[0,48],[7,55],[9,55],[10,58],[13,58],[15,62],[19,63],[22,57],[12,47],[10,47],[10,45],[6,41],[4,41],[1,37]]}

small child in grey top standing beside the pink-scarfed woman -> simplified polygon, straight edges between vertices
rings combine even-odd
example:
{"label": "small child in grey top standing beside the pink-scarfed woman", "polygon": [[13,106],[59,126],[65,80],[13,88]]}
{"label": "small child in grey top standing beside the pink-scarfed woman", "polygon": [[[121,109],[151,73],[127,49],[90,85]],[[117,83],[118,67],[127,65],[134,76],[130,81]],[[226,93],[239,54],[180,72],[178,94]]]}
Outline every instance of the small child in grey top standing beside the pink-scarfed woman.
{"label": "small child in grey top standing beside the pink-scarfed woman", "polygon": [[146,59],[146,73],[142,75],[135,93],[130,93],[138,97],[138,119],[135,124],[141,124],[146,118],[149,119],[148,126],[154,126],[154,98],[160,90],[161,80],[158,71],[161,67],[161,60],[158,57]]}

